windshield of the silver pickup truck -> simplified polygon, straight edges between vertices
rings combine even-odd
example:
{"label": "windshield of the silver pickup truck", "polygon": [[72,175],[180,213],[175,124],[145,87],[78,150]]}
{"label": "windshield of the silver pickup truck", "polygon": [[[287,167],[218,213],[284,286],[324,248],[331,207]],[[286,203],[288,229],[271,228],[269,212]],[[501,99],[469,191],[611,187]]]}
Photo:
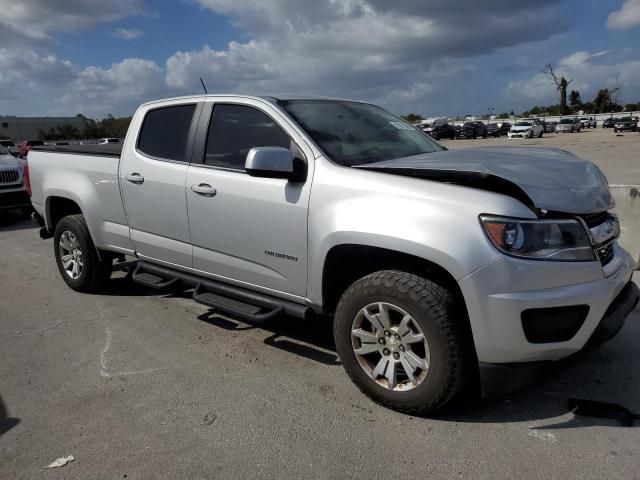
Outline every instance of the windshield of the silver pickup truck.
{"label": "windshield of the silver pickup truck", "polygon": [[335,100],[283,100],[278,104],[339,165],[445,150],[421,130],[375,105]]}

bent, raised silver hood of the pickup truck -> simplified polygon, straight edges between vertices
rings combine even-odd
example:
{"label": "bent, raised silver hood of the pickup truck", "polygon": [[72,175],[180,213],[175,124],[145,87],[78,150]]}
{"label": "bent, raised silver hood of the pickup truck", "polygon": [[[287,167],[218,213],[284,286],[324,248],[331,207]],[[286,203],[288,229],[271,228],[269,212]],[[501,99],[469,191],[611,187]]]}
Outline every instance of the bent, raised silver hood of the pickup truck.
{"label": "bent, raised silver hood of the pickup truck", "polygon": [[355,168],[496,191],[555,212],[587,214],[614,206],[607,179],[596,165],[555,148],[447,150]]}

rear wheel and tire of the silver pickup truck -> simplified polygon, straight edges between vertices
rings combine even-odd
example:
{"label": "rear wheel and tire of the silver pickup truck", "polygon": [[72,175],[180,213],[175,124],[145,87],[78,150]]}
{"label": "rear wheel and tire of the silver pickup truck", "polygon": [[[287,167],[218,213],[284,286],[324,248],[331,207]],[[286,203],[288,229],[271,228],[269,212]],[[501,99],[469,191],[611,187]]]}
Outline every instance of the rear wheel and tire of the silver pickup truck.
{"label": "rear wheel and tire of the silver pickup truck", "polygon": [[[69,215],[58,222],[53,234],[53,250],[62,279],[77,292],[99,291],[111,277],[113,257],[109,252],[99,254],[83,215]],[[71,261],[66,268],[63,254],[66,261]],[[68,258],[69,255],[77,256]]]}

